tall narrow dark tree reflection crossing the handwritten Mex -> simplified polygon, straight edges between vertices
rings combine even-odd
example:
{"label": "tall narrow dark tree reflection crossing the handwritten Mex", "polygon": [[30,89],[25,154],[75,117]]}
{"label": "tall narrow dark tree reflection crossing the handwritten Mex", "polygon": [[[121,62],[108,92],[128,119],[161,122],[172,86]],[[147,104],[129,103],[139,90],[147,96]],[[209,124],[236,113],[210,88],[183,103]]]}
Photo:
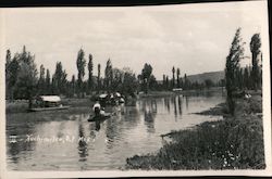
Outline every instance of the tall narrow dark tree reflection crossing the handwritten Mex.
{"label": "tall narrow dark tree reflection crossing the handwritten Mex", "polygon": [[83,128],[83,123],[82,123],[82,118],[79,118],[79,124],[78,124],[78,137],[79,137],[79,141],[78,141],[78,154],[79,154],[79,162],[85,162],[87,161],[88,156],[88,149],[87,149],[87,143],[84,140],[85,137],[85,132],[84,132],[84,128]]}

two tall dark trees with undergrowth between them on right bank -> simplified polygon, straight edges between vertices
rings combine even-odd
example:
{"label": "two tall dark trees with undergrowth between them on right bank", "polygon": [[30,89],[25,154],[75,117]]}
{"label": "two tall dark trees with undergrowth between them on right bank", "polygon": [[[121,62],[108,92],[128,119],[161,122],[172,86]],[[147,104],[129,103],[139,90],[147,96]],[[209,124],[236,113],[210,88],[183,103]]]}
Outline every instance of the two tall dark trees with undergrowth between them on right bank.
{"label": "two tall dark trees with undergrowth between them on right bank", "polygon": [[250,40],[251,65],[240,67],[245,59],[245,42],[240,37],[240,28],[235,33],[225,64],[225,88],[227,105],[231,114],[235,112],[235,93],[240,90],[259,90],[262,88],[262,54],[260,34],[255,34]]}

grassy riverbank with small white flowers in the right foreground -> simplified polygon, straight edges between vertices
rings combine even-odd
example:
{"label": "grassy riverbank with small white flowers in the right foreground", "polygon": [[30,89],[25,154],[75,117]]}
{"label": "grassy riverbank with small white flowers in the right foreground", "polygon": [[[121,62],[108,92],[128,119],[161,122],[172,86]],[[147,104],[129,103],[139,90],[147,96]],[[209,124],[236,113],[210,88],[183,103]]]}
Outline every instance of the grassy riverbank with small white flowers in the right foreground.
{"label": "grassy riverbank with small white flowers in the right foreground", "polygon": [[220,104],[201,115],[223,115],[186,130],[172,131],[158,153],[126,159],[126,169],[262,169],[264,164],[262,97],[237,99],[234,116]]}

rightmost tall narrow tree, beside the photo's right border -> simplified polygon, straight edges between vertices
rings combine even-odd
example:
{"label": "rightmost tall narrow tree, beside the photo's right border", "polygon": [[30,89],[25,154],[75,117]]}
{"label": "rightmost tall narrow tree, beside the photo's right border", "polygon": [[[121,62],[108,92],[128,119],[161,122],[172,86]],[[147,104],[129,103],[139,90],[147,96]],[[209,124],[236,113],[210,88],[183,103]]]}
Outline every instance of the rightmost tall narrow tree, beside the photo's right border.
{"label": "rightmost tall narrow tree, beside the photo's right border", "polygon": [[258,55],[261,54],[261,39],[260,34],[255,34],[251,37],[250,41],[250,51],[252,53],[252,85],[254,89],[257,90],[257,88],[260,88],[260,67],[259,67],[259,59]]}

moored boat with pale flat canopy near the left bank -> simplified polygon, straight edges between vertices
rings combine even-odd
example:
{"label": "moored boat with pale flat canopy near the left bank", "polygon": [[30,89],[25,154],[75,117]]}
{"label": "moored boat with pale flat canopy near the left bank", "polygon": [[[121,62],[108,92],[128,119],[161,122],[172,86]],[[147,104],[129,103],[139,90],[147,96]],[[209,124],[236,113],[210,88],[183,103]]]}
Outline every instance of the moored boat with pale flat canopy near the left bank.
{"label": "moored boat with pale flat canopy near the left bank", "polygon": [[28,112],[67,110],[70,107],[61,104],[59,95],[39,95],[35,101],[34,107],[28,108]]}

